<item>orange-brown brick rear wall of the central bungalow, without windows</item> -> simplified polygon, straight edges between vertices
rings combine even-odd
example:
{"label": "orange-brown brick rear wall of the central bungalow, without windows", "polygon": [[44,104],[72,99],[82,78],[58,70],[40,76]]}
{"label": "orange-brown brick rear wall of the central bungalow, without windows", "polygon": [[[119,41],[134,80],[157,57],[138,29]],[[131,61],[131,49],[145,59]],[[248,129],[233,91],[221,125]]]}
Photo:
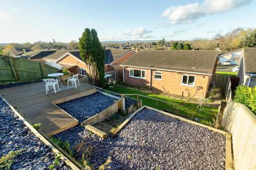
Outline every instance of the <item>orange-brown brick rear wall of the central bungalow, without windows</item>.
{"label": "orange-brown brick rear wall of the central bungalow, without windows", "polygon": [[[129,69],[130,68],[124,69],[125,83],[133,84],[135,86],[149,87],[149,82],[150,82],[150,70],[149,69],[141,69],[141,70],[146,71],[146,79],[138,79],[138,78],[129,77]],[[162,72],[162,80],[156,80],[156,79],[154,79],[155,71],[157,71],[157,70],[152,71],[151,88],[153,90],[168,91],[170,94],[189,96],[189,97],[196,98],[195,94],[197,94],[198,96],[206,95],[207,89],[209,88],[210,77],[208,75],[159,71],[159,72]],[[196,76],[195,87],[181,85],[182,74],[195,75]],[[196,86],[198,86],[198,88]]]}

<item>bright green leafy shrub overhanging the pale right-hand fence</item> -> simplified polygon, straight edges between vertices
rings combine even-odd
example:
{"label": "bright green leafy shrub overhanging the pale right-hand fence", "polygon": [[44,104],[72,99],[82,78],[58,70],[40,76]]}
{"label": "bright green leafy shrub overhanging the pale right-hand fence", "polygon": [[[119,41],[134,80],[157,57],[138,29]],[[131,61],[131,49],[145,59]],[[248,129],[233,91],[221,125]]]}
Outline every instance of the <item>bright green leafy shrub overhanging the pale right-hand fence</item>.
{"label": "bright green leafy shrub overhanging the pale right-hand fence", "polygon": [[247,86],[238,86],[235,90],[234,101],[242,103],[256,113],[256,86],[254,88]]}

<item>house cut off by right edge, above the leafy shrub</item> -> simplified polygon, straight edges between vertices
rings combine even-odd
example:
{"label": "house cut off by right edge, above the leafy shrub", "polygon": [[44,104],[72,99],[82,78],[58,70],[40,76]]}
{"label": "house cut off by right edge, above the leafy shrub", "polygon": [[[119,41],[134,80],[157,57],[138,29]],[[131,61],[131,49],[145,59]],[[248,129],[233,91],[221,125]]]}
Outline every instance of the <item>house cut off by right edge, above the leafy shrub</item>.
{"label": "house cut off by right edge, above the leafy shrub", "polygon": [[248,87],[256,86],[256,48],[242,49],[242,60],[237,77],[240,78],[239,84]]}

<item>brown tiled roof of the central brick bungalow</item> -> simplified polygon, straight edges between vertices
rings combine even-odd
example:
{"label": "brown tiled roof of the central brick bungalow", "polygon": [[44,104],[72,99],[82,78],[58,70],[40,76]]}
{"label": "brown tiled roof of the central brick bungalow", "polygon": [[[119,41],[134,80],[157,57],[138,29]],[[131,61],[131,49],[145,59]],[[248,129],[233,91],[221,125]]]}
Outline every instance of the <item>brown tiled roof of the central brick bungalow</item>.
{"label": "brown tiled roof of the central brick bungalow", "polygon": [[141,50],[121,65],[211,74],[217,56],[215,50]]}

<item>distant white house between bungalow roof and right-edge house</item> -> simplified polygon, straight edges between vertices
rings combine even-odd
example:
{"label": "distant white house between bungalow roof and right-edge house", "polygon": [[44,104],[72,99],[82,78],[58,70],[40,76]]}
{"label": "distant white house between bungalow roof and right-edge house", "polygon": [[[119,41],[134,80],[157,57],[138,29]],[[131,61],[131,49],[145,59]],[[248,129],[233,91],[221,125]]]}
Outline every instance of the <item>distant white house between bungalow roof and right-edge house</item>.
{"label": "distant white house between bungalow roof and right-edge house", "polygon": [[241,62],[241,52],[242,49],[235,49],[230,52],[219,54],[219,62],[223,64],[225,61],[230,61],[232,65],[239,65]]}

